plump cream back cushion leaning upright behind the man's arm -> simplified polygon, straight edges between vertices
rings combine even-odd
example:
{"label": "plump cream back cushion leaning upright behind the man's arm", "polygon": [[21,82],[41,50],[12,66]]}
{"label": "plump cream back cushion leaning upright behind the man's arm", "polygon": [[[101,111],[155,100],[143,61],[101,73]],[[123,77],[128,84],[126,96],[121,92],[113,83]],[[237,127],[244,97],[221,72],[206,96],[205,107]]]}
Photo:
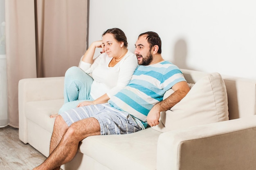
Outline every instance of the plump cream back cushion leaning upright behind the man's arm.
{"label": "plump cream back cushion leaning upright behind the man's arm", "polygon": [[[166,132],[229,119],[226,86],[219,73],[211,73],[189,85],[189,93],[171,110],[162,112],[159,125],[153,129]],[[164,98],[172,93],[170,89]]]}

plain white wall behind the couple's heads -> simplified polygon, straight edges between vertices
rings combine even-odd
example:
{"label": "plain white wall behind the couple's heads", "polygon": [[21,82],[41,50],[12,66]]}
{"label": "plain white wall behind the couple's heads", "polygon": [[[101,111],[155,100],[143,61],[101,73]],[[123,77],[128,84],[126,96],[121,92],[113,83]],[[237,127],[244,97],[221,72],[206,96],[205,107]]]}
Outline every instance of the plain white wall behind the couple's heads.
{"label": "plain white wall behind the couple's heads", "polygon": [[118,27],[128,49],[155,31],[180,68],[256,79],[255,0],[90,0],[89,45]]}

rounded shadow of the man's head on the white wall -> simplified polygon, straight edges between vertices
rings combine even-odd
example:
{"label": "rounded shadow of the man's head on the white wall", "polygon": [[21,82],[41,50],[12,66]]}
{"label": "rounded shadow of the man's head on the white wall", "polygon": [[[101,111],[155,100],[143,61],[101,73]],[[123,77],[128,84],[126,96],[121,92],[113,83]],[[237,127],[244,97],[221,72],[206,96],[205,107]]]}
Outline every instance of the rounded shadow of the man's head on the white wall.
{"label": "rounded shadow of the man's head on the white wall", "polygon": [[191,68],[187,65],[187,53],[188,53],[188,48],[187,48],[186,41],[183,39],[177,40],[174,46],[172,62],[179,68],[195,70],[194,68]]}

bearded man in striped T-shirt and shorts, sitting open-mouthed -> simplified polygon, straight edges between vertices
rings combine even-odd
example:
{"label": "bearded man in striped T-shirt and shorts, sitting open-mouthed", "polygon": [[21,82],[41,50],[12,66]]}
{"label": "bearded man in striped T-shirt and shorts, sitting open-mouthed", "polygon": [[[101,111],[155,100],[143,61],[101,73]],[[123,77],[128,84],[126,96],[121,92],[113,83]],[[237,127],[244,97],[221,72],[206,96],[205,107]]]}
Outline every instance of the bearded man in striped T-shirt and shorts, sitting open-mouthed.
{"label": "bearded man in striped T-shirt and shorts, sitting open-mouthed", "polygon": [[[79,141],[92,135],[132,133],[159,124],[160,112],[172,108],[189,92],[180,69],[161,55],[155,32],[139,35],[135,44],[139,66],[130,83],[106,104],[68,110],[56,117],[49,157],[34,170],[59,170],[76,154]],[[163,99],[172,88],[175,92]]]}

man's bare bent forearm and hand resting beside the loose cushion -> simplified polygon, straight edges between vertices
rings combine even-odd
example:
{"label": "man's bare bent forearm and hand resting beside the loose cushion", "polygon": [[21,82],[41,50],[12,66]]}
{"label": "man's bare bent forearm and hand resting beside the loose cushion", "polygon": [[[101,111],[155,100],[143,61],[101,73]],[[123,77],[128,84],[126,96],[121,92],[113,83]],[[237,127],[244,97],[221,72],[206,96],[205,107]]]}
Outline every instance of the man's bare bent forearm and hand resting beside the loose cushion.
{"label": "man's bare bent forearm and hand resting beside the loose cushion", "polygon": [[183,97],[189,92],[190,88],[187,82],[178,82],[172,87],[174,93],[153,106],[147,116],[147,122],[149,126],[156,126],[159,124],[160,112],[169,110],[175,104],[180,102]]}

